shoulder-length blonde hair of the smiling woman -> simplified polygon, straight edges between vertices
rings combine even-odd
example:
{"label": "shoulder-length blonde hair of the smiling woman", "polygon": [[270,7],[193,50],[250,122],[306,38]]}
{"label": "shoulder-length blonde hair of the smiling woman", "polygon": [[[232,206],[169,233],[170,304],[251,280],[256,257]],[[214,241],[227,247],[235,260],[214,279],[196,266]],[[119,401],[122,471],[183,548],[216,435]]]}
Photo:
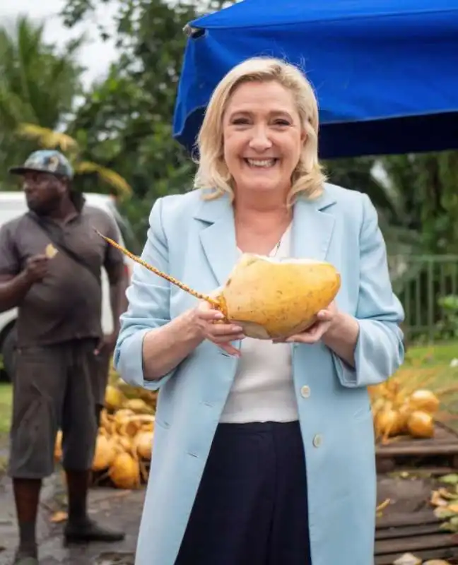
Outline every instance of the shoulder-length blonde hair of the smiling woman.
{"label": "shoulder-length blonde hair of the smiling woman", "polygon": [[315,198],[326,181],[318,160],[318,105],[312,86],[292,64],[271,57],[252,57],[231,69],[213,91],[199,136],[199,160],[194,188],[205,189],[204,198],[225,193],[234,197],[232,179],[223,159],[223,116],[231,95],[243,83],[276,81],[293,94],[307,138],[291,178],[288,202],[298,194]]}

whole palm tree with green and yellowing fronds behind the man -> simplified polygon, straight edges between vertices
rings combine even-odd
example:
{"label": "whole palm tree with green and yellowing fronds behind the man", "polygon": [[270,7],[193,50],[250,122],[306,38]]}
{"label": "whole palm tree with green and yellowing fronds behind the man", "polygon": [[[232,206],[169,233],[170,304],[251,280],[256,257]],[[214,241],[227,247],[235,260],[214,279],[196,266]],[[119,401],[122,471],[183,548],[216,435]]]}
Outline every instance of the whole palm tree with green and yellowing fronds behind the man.
{"label": "whole palm tree with green and yellowing fronds behind the man", "polygon": [[43,32],[43,25],[26,17],[0,28],[0,182],[3,176],[8,186],[8,165],[23,162],[38,144],[67,153],[77,175],[96,174],[117,194],[130,194],[119,174],[82,160],[81,143],[64,133],[82,91],[82,69],[76,62],[82,39],[59,53],[45,43]]}

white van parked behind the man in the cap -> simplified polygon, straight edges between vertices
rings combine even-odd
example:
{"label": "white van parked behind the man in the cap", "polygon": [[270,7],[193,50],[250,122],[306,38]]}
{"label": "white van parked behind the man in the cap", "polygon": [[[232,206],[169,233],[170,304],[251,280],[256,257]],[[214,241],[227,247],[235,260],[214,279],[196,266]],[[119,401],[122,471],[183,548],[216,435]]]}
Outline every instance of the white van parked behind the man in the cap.
{"label": "white van parked behind the man in the cap", "polygon": [[[107,194],[85,194],[86,202],[90,206],[97,206],[109,213],[119,230],[119,241],[124,246],[123,229],[127,224],[119,214],[116,204],[112,196]],[[25,202],[25,196],[20,191],[0,191],[0,226],[13,218],[24,214],[28,211]],[[124,257],[126,272],[130,278],[132,261],[128,257]],[[8,373],[8,367],[11,367],[11,356],[15,345],[15,337],[12,332],[16,322],[17,309],[8,310],[0,313],[0,357],[3,358],[4,373]],[[102,269],[102,330],[104,333],[111,333],[113,328],[113,319],[110,307],[110,285],[108,283],[107,273]],[[4,375],[5,376],[5,375]]]}

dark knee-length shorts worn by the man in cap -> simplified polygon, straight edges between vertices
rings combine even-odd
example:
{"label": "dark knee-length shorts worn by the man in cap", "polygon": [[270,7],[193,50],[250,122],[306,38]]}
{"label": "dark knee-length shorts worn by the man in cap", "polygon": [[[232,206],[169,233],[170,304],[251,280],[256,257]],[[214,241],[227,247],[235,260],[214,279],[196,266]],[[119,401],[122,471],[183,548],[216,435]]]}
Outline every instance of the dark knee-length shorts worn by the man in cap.
{"label": "dark knee-length shorts worn by the man in cap", "polygon": [[8,475],[40,479],[54,471],[62,430],[63,466],[88,470],[93,461],[100,395],[95,342],[26,347],[16,352]]}

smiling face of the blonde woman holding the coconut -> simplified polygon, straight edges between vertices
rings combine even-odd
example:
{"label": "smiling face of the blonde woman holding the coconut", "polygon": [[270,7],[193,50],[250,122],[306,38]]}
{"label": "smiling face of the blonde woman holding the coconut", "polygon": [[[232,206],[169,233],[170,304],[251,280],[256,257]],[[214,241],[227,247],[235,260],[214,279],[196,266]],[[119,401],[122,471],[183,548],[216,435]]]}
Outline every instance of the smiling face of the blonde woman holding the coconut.
{"label": "smiling face of the blonde woman holding the coconut", "polygon": [[304,143],[289,90],[275,81],[236,88],[223,117],[223,155],[236,191],[286,194]]}

